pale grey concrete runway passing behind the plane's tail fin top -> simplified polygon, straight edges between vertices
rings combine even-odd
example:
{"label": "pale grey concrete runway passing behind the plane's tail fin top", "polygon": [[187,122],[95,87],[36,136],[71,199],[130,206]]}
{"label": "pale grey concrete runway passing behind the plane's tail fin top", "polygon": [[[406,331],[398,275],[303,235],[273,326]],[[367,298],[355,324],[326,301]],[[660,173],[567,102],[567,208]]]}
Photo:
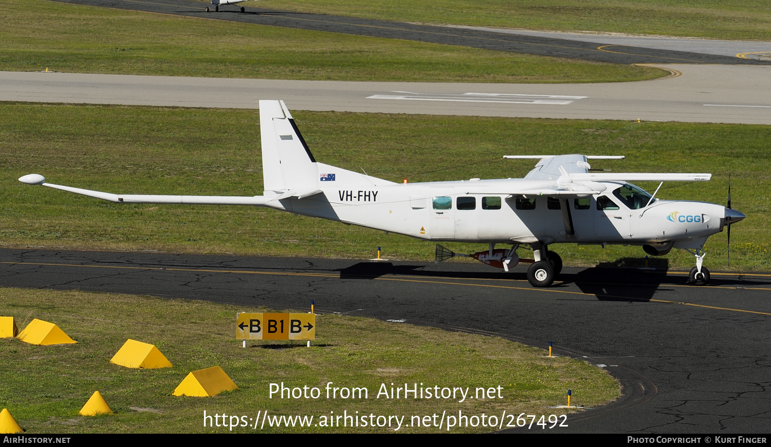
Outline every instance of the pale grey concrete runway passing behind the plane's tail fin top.
{"label": "pale grey concrete runway passing behind the plane's tail fin top", "polygon": [[597,84],[288,81],[0,72],[0,101],[771,124],[771,66],[668,65]]}

